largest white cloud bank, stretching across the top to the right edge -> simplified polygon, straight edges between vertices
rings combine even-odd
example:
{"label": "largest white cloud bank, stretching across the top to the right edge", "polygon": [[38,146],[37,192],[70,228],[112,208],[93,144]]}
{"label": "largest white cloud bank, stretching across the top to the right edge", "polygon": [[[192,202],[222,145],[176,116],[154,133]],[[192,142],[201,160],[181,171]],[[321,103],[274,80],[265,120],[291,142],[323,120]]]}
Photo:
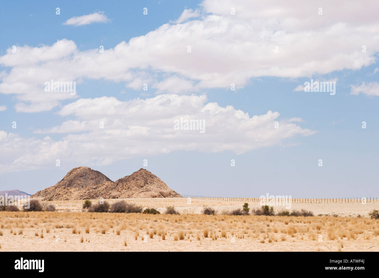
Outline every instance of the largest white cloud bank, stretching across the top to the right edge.
{"label": "largest white cloud bank, stretching across the top to the right edge", "polygon": [[[288,8],[295,5],[297,9]],[[318,7],[323,7],[322,15]],[[262,76],[298,78],[360,69],[376,62],[377,9],[374,0],[364,6],[353,0],[205,0],[200,11],[186,10],[178,19],[182,23],[164,24],[102,53],[80,51],[66,39],[52,46],[20,46],[16,53],[8,49],[0,57],[0,65],[10,67],[0,75],[0,93],[16,94],[24,105],[47,102],[41,106],[45,111],[72,97],[44,93],[43,84],[50,79],[106,79],[135,90],[148,83],[158,93],[192,93],[194,84],[197,90],[230,88],[231,83],[243,87]],[[201,19],[188,17],[200,12]],[[362,53],[360,46],[367,42]],[[171,78],[159,80],[162,73]],[[183,81],[176,91],[168,85],[175,79]],[[38,107],[21,110],[36,112]]]}

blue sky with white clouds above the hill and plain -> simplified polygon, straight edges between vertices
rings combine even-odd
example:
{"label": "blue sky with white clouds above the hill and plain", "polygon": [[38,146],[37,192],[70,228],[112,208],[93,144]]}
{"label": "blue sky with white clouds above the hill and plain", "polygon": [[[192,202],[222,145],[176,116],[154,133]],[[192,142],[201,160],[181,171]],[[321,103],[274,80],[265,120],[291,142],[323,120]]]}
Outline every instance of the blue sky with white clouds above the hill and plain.
{"label": "blue sky with white clouds above the hill and plain", "polygon": [[2,3],[0,190],[88,166],[146,168],[183,195],[376,198],[378,8]]}

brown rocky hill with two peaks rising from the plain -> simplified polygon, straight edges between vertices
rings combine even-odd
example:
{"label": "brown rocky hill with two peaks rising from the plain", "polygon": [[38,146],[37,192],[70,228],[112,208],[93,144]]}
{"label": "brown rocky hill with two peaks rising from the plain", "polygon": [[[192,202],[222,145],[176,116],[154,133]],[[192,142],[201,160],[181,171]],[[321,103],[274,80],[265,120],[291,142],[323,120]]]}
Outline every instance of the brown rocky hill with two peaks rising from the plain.
{"label": "brown rocky hill with two peaks rising from the plain", "polygon": [[146,169],[111,181],[88,167],[74,168],[56,185],[32,195],[44,200],[157,198],[180,196]]}

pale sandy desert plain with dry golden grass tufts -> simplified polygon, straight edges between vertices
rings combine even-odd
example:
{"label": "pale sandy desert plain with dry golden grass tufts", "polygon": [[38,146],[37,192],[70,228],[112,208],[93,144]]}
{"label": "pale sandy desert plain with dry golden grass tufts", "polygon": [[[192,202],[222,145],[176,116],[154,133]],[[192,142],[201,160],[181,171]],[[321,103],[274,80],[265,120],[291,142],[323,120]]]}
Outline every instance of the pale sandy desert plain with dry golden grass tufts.
{"label": "pale sandy desert plain with dry golden grass tufts", "polygon": [[[161,214],[87,212],[83,200],[41,201],[56,211],[0,212],[0,251],[379,251],[379,220],[368,217],[379,209],[376,202],[292,203],[288,210],[315,215],[295,217],[225,214],[241,201],[123,200]],[[180,215],[164,214],[167,206]],[[217,214],[201,214],[206,206]]]}

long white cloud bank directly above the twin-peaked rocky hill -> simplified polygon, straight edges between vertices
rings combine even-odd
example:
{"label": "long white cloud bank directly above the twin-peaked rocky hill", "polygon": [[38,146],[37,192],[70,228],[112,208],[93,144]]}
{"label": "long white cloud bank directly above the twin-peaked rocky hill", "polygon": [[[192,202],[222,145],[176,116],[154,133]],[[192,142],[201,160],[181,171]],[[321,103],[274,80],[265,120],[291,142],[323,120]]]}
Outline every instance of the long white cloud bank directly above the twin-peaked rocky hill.
{"label": "long white cloud bank directly above the twin-peaked rocky hill", "polygon": [[[195,94],[163,94],[131,101],[119,101],[115,97],[78,99],[62,107],[58,115],[75,120],[36,130],[36,133],[62,133],[58,141],[0,131],[1,171],[34,169],[52,165],[56,159],[105,165],[179,150],[242,154],[315,133],[295,123],[302,121],[301,118],[279,119],[280,114],[271,111],[249,116],[232,106],[207,102],[206,96]],[[174,129],[174,121],[180,118],[204,120],[205,132]],[[276,121],[279,128],[275,128]]]}

